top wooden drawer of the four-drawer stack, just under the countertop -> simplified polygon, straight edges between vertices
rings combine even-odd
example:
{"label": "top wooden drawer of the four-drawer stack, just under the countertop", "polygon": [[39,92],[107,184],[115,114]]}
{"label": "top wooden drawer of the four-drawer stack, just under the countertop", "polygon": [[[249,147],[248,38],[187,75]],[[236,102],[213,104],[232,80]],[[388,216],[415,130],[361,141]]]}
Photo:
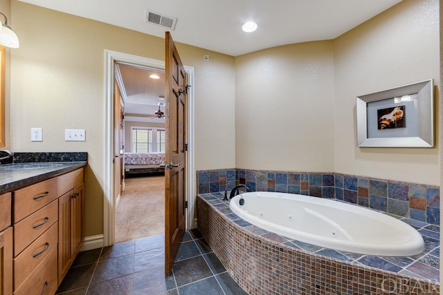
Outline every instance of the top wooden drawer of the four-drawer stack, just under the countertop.
{"label": "top wooden drawer of the four-drawer stack, just under the countertop", "polygon": [[17,223],[26,216],[30,216],[30,214],[57,198],[57,178],[51,178],[50,180],[14,191],[13,223]]}

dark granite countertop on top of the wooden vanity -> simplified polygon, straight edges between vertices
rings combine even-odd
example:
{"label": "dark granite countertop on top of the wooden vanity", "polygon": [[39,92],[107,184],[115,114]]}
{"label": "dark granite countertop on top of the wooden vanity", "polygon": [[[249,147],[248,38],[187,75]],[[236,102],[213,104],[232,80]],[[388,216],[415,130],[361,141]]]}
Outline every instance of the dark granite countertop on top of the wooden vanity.
{"label": "dark granite countertop on top of the wooden vanity", "polygon": [[[48,162],[46,162],[48,163]],[[0,171],[0,193],[6,193],[29,184],[41,182],[48,178],[73,171],[86,166],[86,161],[80,162],[57,162],[57,166],[46,166],[35,169],[16,169]],[[12,164],[14,165],[14,164]]]}

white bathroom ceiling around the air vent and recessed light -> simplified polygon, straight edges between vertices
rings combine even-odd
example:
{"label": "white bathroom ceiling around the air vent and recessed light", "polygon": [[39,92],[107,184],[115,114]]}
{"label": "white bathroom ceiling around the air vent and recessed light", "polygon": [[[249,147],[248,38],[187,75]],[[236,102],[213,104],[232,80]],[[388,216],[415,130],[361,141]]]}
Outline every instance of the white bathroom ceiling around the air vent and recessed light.
{"label": "white bathroom ceiling around the air vent and recessed light", "polygon": [[[401,0],[20,0],[71,15],[164,37],[145,22],[149,9],[177,17],[174,41],[242,55],[263,48],[334,39]],[[242,23],[257,22],[255,32]]]}

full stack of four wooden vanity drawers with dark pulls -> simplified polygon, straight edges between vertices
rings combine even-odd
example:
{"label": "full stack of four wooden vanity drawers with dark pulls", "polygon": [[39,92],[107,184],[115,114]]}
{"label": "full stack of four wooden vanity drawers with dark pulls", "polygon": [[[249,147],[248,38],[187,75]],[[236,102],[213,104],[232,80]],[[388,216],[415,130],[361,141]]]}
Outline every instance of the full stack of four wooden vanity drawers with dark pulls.
{"label": "full stack of four wooden vanity drawers with dark pulls", "polygon": [[58,224],[57,178],[12,191],[12,214],[14,295],[54,294],[58,237],[50,229]]}

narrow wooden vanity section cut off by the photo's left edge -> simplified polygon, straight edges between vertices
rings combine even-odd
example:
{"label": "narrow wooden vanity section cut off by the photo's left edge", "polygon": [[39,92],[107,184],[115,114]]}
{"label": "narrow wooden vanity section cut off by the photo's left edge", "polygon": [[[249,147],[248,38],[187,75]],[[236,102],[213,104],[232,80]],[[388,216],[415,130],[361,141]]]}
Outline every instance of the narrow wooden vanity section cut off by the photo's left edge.
{"label": "narrow wooden vanity section cut off by the photo's left edge", "polygon": [[0,196],[0,295],[12,294],[11,194]]}

